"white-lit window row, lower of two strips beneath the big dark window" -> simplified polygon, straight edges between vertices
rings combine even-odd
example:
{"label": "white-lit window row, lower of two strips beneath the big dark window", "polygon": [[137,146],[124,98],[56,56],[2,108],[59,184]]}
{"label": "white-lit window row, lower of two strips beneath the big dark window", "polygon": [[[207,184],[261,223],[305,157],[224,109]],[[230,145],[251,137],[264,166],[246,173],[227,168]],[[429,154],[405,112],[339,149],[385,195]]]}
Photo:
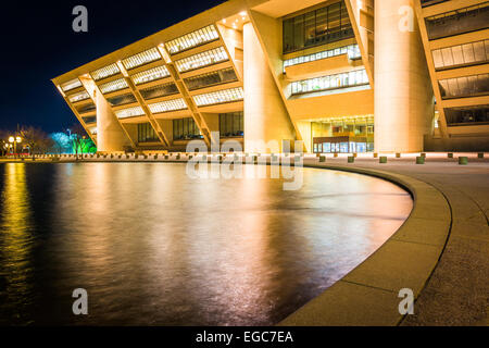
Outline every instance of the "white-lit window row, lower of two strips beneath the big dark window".
{"label": "white-lit window row, lower of two strips beneath the big dark window", "polygon": [[366,71],[363,69],[349,73],[341,73],[329,76],[304,79],[300,82],[293,82],[291,84],[291,88],[292,95],[299,95],[327,89],[361,86],[367,84],[368,77]]}

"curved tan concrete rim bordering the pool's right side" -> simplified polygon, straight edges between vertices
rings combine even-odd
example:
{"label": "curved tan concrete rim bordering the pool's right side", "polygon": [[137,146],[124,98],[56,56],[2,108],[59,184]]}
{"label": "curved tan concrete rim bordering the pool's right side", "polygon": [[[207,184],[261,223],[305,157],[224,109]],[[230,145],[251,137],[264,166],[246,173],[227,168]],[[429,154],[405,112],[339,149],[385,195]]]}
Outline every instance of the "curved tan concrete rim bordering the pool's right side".
{"label": "curved tan concrete rim bordering the pool's right side", "polygon": [[403,315],[399,291],[419,296],[448,240],[452,214],[435,187],[406,175],[338,165],[304,164],[365,174],[392,182],[411,192],[413,210],[403,225],[371,257],[278,326],[393,326]]}

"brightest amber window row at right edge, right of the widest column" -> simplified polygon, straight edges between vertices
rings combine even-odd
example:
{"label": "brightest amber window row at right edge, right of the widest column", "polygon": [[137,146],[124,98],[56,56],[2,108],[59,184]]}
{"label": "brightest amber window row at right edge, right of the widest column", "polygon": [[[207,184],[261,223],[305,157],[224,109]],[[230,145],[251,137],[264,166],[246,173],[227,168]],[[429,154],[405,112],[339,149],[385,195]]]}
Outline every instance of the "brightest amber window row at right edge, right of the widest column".
{"label": "brightest amber window row at right edge, right of the widest column", "polygon": [[489,61],[489,40],[441,48],[431,54],[435,69],[482,63]]}

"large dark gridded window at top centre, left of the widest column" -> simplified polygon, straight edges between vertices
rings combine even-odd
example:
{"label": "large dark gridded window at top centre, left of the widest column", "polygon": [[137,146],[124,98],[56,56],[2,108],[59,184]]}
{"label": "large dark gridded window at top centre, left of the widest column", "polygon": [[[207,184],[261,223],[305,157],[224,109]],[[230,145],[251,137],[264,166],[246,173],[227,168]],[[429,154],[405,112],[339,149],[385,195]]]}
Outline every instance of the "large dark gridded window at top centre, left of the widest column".
{"label": "large dark gridded window at top centre, left of the widest column", "polygon": [[284,53],[353,37],[344,1],[284,20]]}

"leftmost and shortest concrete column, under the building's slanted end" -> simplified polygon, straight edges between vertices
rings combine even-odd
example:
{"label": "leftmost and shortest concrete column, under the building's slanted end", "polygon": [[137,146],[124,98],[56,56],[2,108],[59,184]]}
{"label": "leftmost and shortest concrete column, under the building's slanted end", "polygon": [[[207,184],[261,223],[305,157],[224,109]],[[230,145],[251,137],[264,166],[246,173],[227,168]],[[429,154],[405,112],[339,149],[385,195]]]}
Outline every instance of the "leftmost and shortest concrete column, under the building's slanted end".
{"label": "leftmost and shortest concrete column, under the building's slanted end", "polygon": [[130,146],[117,117],[101,92],[96,92],[97,100],[97,150],[99,152],[124,151]]}

